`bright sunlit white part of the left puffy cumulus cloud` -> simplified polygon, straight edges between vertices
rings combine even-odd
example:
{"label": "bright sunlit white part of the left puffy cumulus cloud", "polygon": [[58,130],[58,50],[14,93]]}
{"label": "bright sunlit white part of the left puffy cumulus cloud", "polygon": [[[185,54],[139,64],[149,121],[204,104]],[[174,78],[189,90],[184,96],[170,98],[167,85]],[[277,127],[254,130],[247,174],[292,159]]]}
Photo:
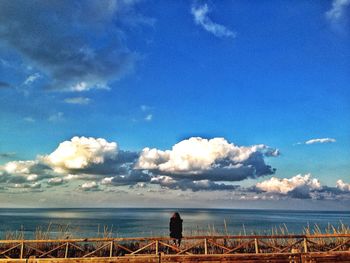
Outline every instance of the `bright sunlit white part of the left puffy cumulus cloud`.
{"label": "bright sunlit white part of the left puffy cumulus cloud", "polygon": [[56,172],[85,169],[103,164],[106,159],[117,155],[117,144],[105,139],[92,137],[73,137],[70,141],[60,143],[50,155],[43,157]]}

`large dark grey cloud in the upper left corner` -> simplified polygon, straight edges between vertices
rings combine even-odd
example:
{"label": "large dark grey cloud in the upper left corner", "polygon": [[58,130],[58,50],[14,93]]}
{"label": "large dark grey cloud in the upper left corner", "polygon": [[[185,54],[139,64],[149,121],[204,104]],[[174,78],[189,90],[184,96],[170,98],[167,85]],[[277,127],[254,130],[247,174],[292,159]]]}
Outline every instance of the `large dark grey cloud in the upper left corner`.
{"label": "large dark grey cloud in the upper left corner", "polygon": [[48,89],[106,89],[137,58],[123,31],[123,25],[147,24],[134,10],[136,3],[0,1],[0,43],[39,70]]}

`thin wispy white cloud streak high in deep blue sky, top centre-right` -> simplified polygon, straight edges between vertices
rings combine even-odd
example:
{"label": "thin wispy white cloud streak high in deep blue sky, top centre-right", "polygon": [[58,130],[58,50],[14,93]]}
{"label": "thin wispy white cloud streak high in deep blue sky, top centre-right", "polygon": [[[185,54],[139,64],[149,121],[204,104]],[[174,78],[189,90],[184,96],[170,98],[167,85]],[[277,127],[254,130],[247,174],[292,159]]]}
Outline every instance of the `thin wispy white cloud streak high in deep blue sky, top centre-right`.
{"label": "thin wispy white cloud streak high in deep blue sky, top centre-right", "polygon": [[217,37],[231,37],[234,38],[236,33],[229,30],[223,25],[214,23],[209,17],[209,7],[207,4],[201,6],[192,6],[191,13],[197,25],[200,25],[204,30],[212,33]]}

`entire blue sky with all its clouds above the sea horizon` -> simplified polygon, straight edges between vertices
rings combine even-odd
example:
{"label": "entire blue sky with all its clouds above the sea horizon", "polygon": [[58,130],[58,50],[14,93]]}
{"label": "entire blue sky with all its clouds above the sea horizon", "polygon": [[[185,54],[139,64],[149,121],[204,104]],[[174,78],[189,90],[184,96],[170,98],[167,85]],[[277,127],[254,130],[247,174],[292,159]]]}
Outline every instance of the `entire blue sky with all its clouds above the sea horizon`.
{"label": "entire blue sky with all its clouds above the sea horizon", "polygon": [[1,207],[350,207],[350,0],[0,1]]}

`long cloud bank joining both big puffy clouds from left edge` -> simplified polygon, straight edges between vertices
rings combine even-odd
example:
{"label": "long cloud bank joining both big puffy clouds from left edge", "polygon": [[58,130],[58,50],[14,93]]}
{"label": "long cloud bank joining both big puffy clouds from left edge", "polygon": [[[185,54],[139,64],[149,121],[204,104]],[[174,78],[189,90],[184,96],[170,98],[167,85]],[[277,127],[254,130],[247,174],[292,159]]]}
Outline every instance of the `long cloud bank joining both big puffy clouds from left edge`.
{"label": "long cloud bank joining both big puffy clouds from left edge", "polygon": [[[0,167],[0,182],[26,183],[46,179],[49,187],[80,180],[101,186],[159,184],[181,190],[233,190],[236,186],[218,181],[239,181],[273,174],[264,158],[278,150],[265,145],[238,147],[223,138],[184,140],[161,151],[145,148],[141,153],[118,149],[103,138],[73,137],[47,155],[33,161],[8,162]],[[174,182],[167,184],[165,177]],[[99,188],[100,189],[100,188]]]}

